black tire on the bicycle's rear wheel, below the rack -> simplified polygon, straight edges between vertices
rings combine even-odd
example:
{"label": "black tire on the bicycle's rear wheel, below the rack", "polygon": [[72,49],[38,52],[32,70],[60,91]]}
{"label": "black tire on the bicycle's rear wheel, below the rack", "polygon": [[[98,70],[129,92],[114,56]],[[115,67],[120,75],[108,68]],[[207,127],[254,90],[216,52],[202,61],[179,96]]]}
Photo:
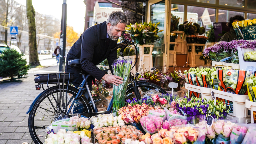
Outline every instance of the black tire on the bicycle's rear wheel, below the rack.
{"label": "black tire on the bicycle's rear wheel, below the rack", "polygon": [[[51,88],[50,88],[51,89]],[[61,91],[63,90],[63,86],[61,85]],[[59,92],[59,88],[53,88],[51,89],[52,93],[57,93]],[[64,87],[64,93],[67,92],[67,86]],[[68,87],[68,93],[75,95],[78,93],[78,90],[75,88],[75,87],[72,87],[72,86],[69,86]],[[39,104],[41,102],[43,102],[43,100],[45,98],[47,98],[47,96],[50,96],[51,93],[50,91],[46,91],[35,103],[35,105],[33,106],[33,109],[31,110],[31,112],[29,113],[29,118],[28,118],[28,129],[29,129],[29,133],[30,133],[30,136],[32,138],[32,140],[34,141],[35,144],[43,144],[43,142],[41,142],[41,140],[38,138],[38,135],[35,131],[35,128],[34,128],[34,118],[35,118],[35,112],[37,111],[37,106],[40,106]],[[86,107],[84,107],[89,113],[92,112],[92,108],[88,102],[88,100],[84,97],[84,96],[81,96],[79,100],[82,100],[83,103],[86,105]],[[50,125],[50,124],[49,124]],[[47,135],[47,134],[46,134]]]}

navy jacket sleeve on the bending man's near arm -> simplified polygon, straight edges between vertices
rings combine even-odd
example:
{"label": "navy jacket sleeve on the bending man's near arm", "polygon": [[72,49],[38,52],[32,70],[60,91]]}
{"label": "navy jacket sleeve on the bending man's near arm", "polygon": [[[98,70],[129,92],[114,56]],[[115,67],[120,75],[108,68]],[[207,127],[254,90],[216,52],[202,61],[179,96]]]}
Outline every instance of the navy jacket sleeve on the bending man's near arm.
{"label": "navy jacket sleeve on the bending man's near arm", "polygon": [[99,36],[94,31],[95,30],[87,30],[83,34],[81,44],[81,67],[88,74],[100,81],[105,75],[105,72],[100,70],[92,63],[94,48],[99,39]]}

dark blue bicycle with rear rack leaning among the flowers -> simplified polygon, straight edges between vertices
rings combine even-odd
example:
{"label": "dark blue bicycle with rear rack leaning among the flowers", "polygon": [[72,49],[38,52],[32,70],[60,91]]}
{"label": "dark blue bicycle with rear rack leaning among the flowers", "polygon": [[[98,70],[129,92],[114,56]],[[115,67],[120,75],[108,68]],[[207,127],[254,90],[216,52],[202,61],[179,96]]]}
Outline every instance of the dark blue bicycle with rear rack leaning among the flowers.
{"label": "dark blue bicycle with rear rack leaning among the flowers", "polygon": [[[123,40],[118,43],[118,45],[111,49],[114,51],[118,48],[120,49],[120,55],[122,58],[123,51],[126,47],[133,45],[136,51],[136,61],[132,68],[137,63],[138,53],[137,48],[128,39]],[[57,121],[60,118],[67,116],[72,117],[73,115],[81,112],[79,114],[91,117],[98,114],[109,114],[112,111],[113,97],[107,107],[106,111],[99,112],[95,100],[92,97],[92,93],[89,89],[87,78],[90,75],[85,75],[80,65],[80,59],[71,60],[68,62],[71,67],[78,67],[81,70],[81,75],[83,78],[82,83],[78,88],[70,85],[70,82],[74,79],[71,73],[51,73],[51,74],[36,74],[35,82],[36,90],[43,88],[35,100],[30,105],[26,114],[29,113],[28,127],[32,140],[35,144],[43,144],[44,139],[47,136],[47,132],[44,131],[47,126],[49,126],[53,121]],[[131,68],[131,70],[132,70]],[[104,72],[110,69],[103,70]],[[158,89],[161,93],[166,93],[166,91],[160,86],[147,82],[148,80],[137,80],[139,73],[130,75],[129,79],[131,81],[127,86],[126,99],[141,99],[141,91],[145,92],[148,89]],[[60,85],[62,83],[62,85]],[[49,84],[56,84],[55,86],[49,87]],[[66,85],[65,85],[66,84]],[[44,89],[43,85],[47,85],[47,89]],[[140,89],[140,90],[139,90]],[[85,97],[85,93],[88,93],[89,98]],[[41,141],[42,140],[42,141]]]}

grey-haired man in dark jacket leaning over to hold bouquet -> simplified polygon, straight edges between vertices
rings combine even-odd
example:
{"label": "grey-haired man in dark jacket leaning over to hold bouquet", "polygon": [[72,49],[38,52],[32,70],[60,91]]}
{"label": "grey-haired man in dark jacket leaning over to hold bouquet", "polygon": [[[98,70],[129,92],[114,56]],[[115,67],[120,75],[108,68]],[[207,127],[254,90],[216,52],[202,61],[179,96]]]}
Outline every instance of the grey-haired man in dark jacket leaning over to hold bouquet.
{"label": "grey-haired man in dark jacket leaning over to hold bouquet", "polygon": [[[79,74],[81,71],[77,67],[71,68],[68,65],[68,61],[74,59],[81,59],[82,69],[86,74],[92,75],[87,80],[90,90],[92,90],[94,78],[97,80],[104,79],[117,86],[123,82],[121,77],[105,74],[96,65],[107,59],[113,74],[111,65],[117,59],[117,51],[111,52],[110,49],[117,45],[117,40],[124,31],[127,22],[128,19],[123,12],[114,11],[109,15],[106,22],[88,28],[74,43],[67,55],[65,71],[75,73],[72,82],[75,87],[79,87],[83,79]],[[88,96],[86,97],[88,98]]]}

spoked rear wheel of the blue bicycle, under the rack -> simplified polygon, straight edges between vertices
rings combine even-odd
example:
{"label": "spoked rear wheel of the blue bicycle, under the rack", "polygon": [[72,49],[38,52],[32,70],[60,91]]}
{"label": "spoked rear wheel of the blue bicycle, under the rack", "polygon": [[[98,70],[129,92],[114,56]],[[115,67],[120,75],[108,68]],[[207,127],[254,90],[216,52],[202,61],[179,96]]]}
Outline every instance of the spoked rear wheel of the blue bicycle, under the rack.
{"label": "spoked rear wheel of the blue bicycle, under the rack", "polygon": [[[53,96],[57,99],[57,94],[60,96],[60,91],[58,87],[50,88]],[[61,86],[61,92],[63,93],[63,86]],[[67,110],[70,105],[74,101],[78,90],[72,86],[64,87],[64,102],[59,100],[62,103],[66,104],[66,93],[67,93]],[[48,127],[52,122],[56,121],[57,118],[62,115],[62,113],[58,110],[56,101],[54,100],[50,91],[46,91],[35,103],[32,111],[29,113],[28,118],[28,128],[29,133],[35,144],[43,144],[44,140],[47,138],[47,134],[44,129]],[[64,108],[60,104],[59,109]],[[71,112],[69,113],[69,117],[75,115],[76,113],[91,113],[92,109],[84,96],[81,96],[73,106]]]}

